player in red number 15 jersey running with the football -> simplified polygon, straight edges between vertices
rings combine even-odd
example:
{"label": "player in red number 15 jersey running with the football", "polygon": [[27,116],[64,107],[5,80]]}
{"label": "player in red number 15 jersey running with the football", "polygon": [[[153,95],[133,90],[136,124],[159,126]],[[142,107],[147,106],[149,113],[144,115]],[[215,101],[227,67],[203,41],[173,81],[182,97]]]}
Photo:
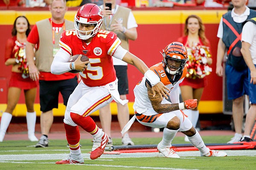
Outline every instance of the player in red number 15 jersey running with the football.
{"label": "player in red number 15 jersey running with the football", "polygon": [[[84,163],[78,125],[94,138],[90,159],[96,159],[104,152],[108,135],[89,115],[113,99],[122,105],[128,102],[120,99],[112,56],[137,67],[151,83],[153,93],[160,93],[167,98],[169,89],[160,82],[160,78],[142,60],[123,49],[115,33],[100,30],[102,20],[103,12],[98,6],[90,3],[81,6],[75,15],[75,29],[63,32],[59,42],[61,49],[52,62],[53,74],[78,70],[81,71],[82,79],[70,95],[64,117],[70,154],[67,159],[57,161],[56,164]],[[69,62],[70,56],[75,54],[84,54],[89,57],[89,61],[82,62],[80,56],[76,61]]]}

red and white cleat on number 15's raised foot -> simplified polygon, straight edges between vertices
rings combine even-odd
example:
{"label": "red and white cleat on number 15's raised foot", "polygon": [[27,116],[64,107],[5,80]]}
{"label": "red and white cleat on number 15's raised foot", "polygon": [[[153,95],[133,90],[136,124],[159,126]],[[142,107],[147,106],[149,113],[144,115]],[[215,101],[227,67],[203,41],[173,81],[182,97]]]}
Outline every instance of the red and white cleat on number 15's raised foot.
{"label": "red and white cleat on number 15's raised foot", "polygon": [[103,133],[101,138],[93,139],[93,149],[90,154],[90,159],[97,159],[104,153],[105,146],[108,143],[108,135],[105,132]]}

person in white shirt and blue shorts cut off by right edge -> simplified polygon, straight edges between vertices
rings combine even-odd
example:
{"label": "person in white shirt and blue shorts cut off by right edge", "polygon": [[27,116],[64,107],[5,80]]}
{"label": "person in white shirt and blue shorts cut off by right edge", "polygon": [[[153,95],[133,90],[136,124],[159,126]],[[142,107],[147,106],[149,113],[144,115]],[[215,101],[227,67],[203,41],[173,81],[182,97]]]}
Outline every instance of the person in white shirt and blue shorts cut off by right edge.
{"label": "person in white shirt and blue shorts cut off by right edge", "polygon": [[256,17],[247,20],[242,29],[242,48],[244,61],[248,66],[250,108],[246,114],[244,136],[241,142],[252,142],[250,131],[256,118]]}

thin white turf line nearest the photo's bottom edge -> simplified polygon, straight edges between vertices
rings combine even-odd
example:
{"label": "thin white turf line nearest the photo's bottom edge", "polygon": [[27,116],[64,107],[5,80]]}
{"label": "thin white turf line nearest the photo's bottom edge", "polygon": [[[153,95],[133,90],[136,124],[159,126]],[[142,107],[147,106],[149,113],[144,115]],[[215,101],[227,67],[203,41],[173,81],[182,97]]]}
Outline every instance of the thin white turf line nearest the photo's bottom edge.
{"label": "thin white turf line nearest the photo's bottom edge", "polygon": [[[0,161],[0,163],[17,163],[17,164],[55,164],[54,162],[16,162],[16,161]],[[97,167],[123,167],[123,168],[141,168],[141,169],[153,169],[153,170],[198,170],[198,169],[181,169],[170,167],[137,167],[137,166],[123,166],[123,165],[105,165],[105,164],[73,164],[83,166],[97,166]]]}

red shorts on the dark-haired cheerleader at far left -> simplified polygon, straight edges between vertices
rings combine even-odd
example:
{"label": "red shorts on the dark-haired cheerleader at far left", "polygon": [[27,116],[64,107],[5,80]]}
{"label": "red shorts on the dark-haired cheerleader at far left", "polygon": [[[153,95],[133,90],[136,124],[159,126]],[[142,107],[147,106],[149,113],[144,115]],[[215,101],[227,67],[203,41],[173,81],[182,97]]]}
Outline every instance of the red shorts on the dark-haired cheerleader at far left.
{"label": "red shorts on the dark-haired cheerleader at far left", "polygon": [[38,81],[33,81],[29,77],[23,79],[21,75],[21,73],[12,72],[11,79],[9,81],[9,88],[16,87],[23,90],[28,90],[31,88],[36,88],[38,86]]}

